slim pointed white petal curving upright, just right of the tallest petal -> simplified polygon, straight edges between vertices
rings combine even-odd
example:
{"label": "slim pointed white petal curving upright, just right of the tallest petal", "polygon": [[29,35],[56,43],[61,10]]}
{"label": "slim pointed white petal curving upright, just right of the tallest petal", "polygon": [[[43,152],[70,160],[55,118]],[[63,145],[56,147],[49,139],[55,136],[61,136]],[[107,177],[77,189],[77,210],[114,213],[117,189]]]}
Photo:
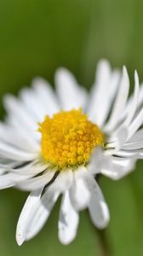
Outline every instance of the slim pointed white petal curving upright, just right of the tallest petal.
{"label": "slim pointed white petal curving upright, just right of the tallest petal", "polygon": [[117,98],[112,108],[112,114],[108,123],[105,126],[105,131],[113,130],[120,116],[122,116],[127,99],[129,96],[129,76],[125,67],[123,67],[123,75],[119,84],[119,91],[117,92]]}

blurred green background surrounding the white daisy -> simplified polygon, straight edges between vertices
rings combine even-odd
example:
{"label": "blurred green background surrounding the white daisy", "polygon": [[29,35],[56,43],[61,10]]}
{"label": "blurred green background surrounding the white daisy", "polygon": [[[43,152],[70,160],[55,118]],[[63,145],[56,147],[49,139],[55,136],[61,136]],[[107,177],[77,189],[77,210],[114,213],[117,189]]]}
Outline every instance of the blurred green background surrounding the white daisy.
{"label": "blurred green background surrounding the white daisy", "polygon": [[[134,68],[143,80],[143,1],[141,0],[0,0],[0,107],[2,96],[17,93],[35,76],[53,82],[57,67],[69,68],[88,88],[97,61],[112,67],[125,64],[133,85]],[[111,211],[111,223],[102,234],[110,256],[143,255],[143,173],[121,181],[100,180]],[[15,227],[28,194],[14,189],[0,193],[0,255],[101,256],[103,241],[81,212],[77,238],[64,247],[57,238],[59,204],[43,230],[18,247]],[[102,239],[103,240],[103,239]]]}

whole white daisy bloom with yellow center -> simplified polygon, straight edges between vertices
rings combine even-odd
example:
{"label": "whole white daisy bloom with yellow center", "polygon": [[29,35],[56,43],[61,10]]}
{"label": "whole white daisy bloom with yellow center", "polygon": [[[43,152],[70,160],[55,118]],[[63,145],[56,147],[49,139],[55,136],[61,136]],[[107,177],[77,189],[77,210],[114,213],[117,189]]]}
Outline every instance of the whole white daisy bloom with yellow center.
{"label": "whole white daisy bloom with yellow center", "polygon": [[43,79],[4,96],[8,115],[0,124],[0,189],[31,191],[17,224],[19,245],[42,229],[59,196],[59,239],[77,235],[78,212],[88,208],[93,224],[103,229],[109,211],[97,174],[118,179],[143,157],[143,85],[100,61],[91,92],[72,73],[55,73],[55,92]]}

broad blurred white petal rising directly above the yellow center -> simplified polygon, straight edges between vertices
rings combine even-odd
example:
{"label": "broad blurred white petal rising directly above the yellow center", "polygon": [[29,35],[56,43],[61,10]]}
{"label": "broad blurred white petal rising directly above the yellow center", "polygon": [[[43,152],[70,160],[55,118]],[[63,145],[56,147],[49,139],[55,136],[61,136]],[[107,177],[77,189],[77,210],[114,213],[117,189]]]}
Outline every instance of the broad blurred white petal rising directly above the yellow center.
{"label": "broad blurred white petal rising directly above the yellow center", "polygon": [[85,107],[87,94],[82,87],[78,86],[76,79],[66,68],[60,68],[55,73],[55,85],[62,109]]}

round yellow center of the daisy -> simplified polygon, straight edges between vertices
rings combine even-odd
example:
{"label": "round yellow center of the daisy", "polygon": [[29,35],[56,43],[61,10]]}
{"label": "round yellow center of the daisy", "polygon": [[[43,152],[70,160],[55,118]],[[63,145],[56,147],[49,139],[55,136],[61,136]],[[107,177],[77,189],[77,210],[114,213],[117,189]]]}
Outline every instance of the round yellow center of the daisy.
{"label": "round yellow center of the daisy", "polygon": [[38,131],[42,133],[43,159],[60,170],[85,165],[92,150],[104,141],[99,127],[88,120],[82,109],[61,111],[53,118],[46,116]]}

